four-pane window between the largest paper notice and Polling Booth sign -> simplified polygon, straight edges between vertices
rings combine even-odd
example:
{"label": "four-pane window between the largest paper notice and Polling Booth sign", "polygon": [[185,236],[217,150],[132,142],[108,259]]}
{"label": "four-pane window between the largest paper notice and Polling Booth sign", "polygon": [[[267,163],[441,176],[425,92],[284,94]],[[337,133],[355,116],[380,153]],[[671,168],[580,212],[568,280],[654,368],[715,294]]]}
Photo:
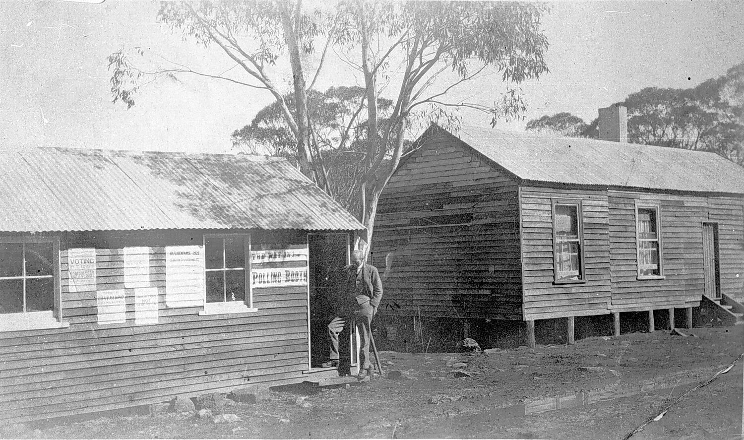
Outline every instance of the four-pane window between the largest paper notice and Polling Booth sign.
{"label": "four-pane window between the largest paper notice and Polling Booth sign", "polygon": [[205,310],[202,314],[243,313],[251,309],[250,238],[205,235]]}

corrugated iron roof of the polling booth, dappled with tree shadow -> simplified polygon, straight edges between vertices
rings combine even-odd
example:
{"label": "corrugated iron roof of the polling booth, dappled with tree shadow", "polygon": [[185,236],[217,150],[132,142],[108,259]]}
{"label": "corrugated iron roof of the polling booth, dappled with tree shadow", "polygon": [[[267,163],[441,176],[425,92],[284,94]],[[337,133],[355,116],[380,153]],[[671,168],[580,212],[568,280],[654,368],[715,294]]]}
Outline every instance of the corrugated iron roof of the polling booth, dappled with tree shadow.
{"label": "corrugated iron roof of the polling booth, dappled with tree shadow", "polygon": [[289,162],[33,148],[0,153],[0,231],[364,229]]}

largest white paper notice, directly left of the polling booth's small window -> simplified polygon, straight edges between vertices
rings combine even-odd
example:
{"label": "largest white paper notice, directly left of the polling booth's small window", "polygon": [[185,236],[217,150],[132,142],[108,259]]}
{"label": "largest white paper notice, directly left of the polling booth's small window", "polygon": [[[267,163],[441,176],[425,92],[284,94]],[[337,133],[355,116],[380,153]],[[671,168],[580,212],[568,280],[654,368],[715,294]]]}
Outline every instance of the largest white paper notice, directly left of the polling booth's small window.
{"label": "largest white paper notice, directly left of the polling booth's small window", "polygon": [[165,247],[165,305],[201,307],[204,304],[204,248]]}

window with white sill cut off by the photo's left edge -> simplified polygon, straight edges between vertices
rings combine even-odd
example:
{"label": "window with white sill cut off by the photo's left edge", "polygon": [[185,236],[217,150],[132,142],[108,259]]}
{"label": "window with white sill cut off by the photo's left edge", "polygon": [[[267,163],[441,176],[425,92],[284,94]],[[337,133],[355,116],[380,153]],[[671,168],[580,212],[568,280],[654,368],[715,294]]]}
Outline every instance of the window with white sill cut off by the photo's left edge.
{"label": "window with white sill cut off by the photo's left edge", "polygon": [[58,319],[59,253],[54,239],[0,240],[0,331],[66,326]]}

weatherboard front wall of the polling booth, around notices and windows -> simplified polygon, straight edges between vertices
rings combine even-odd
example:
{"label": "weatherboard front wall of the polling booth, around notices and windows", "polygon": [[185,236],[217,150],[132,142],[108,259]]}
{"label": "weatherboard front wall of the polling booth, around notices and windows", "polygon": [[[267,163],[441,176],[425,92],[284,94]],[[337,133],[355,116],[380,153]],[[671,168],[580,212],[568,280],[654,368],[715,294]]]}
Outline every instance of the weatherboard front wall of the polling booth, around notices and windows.
{"label": "weatherboard front wall of the polling booth, around notices and windows", "polygon": [[[231,231],[234,232],[234,231]],[[299,382],[308,369],[307,285],[254,290],[254,313],[199,316],[168,308],[164,247],[202,243],[200,231],[95,232],[62,238],[62,307],[69,328],[0,333],[0,420],[28,421],[240,386]],[[304,233],[251,234],[252,243],[307,243]],[[97,290],[123,289],[122,246],[151,246],[158,324],[99,325],[94,291],[70,293],[67,251],[96,247]]]}

